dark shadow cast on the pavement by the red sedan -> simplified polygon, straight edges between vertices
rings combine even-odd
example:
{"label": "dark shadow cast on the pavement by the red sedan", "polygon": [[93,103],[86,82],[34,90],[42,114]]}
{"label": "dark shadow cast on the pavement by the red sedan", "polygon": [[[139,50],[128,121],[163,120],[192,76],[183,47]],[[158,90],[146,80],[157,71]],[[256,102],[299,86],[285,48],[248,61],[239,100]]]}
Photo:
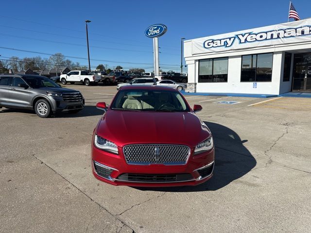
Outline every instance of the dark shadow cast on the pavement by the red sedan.
{"label": "dark shadow cast on the pavement by the red sedan", "polygon": [[237,133],[223,125],[205,123],[212,132],[215,145],[215,167],[210,180],[197,186],[136,188],[166,192],[215,191],[241,178],[256,166],[256,159],[243,145],[247,140],[242,140]]}

